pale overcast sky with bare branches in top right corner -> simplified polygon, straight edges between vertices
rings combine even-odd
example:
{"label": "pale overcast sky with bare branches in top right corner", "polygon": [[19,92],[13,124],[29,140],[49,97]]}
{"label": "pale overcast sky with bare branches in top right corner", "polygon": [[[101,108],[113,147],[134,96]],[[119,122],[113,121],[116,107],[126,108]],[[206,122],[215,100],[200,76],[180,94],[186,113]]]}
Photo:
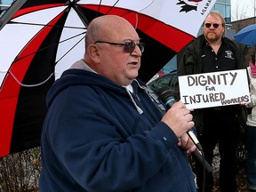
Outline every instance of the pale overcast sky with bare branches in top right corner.
{"label": "pale overcast sky with bare branches in top right corner", "polygon": [[256,0],[231,0],[231,20],[254,17],[255,7]]}

